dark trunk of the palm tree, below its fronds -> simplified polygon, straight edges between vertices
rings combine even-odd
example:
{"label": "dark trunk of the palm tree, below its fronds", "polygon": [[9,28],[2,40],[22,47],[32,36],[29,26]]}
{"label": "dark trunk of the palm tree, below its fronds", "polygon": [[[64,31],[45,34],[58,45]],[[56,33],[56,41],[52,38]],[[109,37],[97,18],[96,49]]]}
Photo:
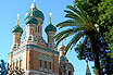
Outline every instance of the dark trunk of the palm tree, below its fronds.
{"label": "dark trunk of the palm tree, below its fronds", "polygon": [[95,35],[89,36],[90,43],[91,43],[91,50],[92,50],[92,55],[93,55],[93,61],[95,61],[95,73],[96,75],[101,75],[100,71],[100,62],[99,62],[99,48],[98,48],[98,41],[97,37]]}

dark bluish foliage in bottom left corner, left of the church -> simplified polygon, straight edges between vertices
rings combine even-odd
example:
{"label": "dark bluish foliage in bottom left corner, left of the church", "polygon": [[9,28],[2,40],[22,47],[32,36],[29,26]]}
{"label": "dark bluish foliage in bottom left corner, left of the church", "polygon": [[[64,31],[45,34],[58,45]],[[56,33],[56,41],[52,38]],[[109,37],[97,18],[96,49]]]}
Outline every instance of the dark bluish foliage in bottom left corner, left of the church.
{"label": "dark bluish foliage in bottom left corner, left of the church", "polygon": [[8,63],[5,63],[3,60],[0,60],[0,75],[7,74],[8,74]]}

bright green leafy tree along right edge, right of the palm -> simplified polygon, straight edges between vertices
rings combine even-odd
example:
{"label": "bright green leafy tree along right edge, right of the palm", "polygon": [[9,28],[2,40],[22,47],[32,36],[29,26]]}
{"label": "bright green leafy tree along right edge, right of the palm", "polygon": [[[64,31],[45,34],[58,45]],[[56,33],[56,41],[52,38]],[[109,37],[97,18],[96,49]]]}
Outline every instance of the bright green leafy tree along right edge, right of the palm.
{"label": "bright green leafy tree along right edge, right of the palm", "polygon": [[110,52],[102,59],[101,67],[104,74],[113,74],[113,0],[102,0],[98,8],[98,23],[104,28],[103,37],[109,43]]}

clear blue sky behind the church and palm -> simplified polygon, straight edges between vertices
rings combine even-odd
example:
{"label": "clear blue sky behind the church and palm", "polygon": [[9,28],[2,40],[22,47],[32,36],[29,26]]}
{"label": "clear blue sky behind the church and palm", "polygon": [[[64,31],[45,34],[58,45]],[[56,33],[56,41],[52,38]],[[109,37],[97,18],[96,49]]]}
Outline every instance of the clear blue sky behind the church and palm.
{"label": "clear blue sky behind the church and palm", "polygon": [[[12,28],[15,26],[17,21],[17,13],[20,14],[18,24],[23,27],[24,33],[22,35],[22,39],[25,36],[25,22],[24,15],[26,11],[30,9],[30,4],[34,0],[1,0],[0,1],[0,59],[3,59],[8,62],[8,53],[10,51],[10,47],[13,42]],[[64,17],[66,5],[73,5],[74,0],[36,0],[36,5],[39,10],[43,12],[45,21],[42,24],[42,37],[47,41],[47,35],[45,33],[46,26],[49,24],[49,13],[52,12],[52,24],[56,25],[60,22],[63,22],[67,18]],[[56,33],[59,33],[58,30]],[[64,45],[66,45],[67,40],[64,40]],[[86,62],[79,61],[77,59],[77,54],[74,50],[66,54],[67,59],[75,68],[75,75],[85,75],[86,73]],[[93,62],[89,62],[89,67]],[[91,74],[93,74],[91,70]]]}

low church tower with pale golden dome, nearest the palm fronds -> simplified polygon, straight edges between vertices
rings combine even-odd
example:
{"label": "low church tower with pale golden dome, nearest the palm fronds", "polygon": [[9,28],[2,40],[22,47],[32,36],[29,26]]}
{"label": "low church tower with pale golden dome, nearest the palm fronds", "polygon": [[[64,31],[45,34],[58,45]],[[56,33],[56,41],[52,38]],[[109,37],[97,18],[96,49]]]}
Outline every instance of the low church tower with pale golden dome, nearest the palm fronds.
{"label": "low church tower with pale golden dome, nearest the palm fronds", "polygon": [[64,55],[65,53],[65,46],[63,41],[59,47],[60,51],[60,59],[59,59],[59,75],[74,75],[74,66],[71,62],[68,62],[67,58]]}

